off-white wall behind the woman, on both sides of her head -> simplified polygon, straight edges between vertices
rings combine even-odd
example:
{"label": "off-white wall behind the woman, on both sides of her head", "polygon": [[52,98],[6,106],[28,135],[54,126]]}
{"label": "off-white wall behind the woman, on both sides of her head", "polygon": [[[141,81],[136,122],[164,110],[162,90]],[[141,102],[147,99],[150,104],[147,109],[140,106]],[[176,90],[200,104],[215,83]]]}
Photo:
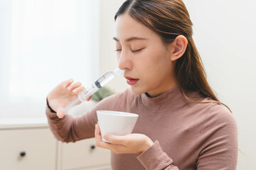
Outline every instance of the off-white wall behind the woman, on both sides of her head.
{"label": "off-white wall behind the woman, on both sides of her head", "polygon": [[[101,1],[100,73],[116,66],[114,13],[123,1]],[[194,23],[196,42],[208,81],[238,123],[238,169],[256,169],[256,1],[184,1]],[[127,84],[115,80],[111,89],[122,91]]]}

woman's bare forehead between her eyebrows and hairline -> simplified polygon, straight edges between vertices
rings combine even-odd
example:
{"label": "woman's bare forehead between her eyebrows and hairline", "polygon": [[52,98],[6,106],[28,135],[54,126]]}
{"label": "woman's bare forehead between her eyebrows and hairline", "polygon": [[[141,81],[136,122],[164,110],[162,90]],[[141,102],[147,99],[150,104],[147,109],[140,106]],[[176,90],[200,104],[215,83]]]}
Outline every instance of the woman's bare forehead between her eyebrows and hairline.
{"label": "woman's bare forehead between her eyebrows and hairline", "polygon": [[155,38],[158,36],[153,30],[134,20],[128,13],[117,16],[115,23],[115,37],[124,40],[130,37]]}

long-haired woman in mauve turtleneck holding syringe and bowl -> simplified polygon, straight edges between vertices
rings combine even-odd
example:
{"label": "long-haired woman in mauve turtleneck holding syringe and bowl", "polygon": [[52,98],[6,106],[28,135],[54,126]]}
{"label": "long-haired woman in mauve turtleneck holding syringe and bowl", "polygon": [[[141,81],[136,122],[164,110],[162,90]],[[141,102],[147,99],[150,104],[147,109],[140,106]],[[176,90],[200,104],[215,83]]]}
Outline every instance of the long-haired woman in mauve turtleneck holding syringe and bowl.
{"label": "long-haired woman in mauve turtleneck holding syringe and bowl", "polygon": [[[46,114],[58,140],[95,137],[112,151],[112,169],[235,169],[237,125],[206,81],[181,0],[127,0],[114,16],[119,68],[131,89],[97,104],[80,118],[63,115],[84,89],[63,81],[48,94]],[[97,110],[139,114],[133,133],[107,134]],[[57,112],[57,114],[55,113]]]}

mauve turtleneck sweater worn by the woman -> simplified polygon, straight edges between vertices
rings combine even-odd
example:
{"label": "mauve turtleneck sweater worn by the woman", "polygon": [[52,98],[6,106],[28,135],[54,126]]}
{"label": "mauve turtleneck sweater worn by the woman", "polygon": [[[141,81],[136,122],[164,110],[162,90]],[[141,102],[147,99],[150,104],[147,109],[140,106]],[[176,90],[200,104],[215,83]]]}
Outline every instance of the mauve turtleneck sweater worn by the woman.
{"label": "mauve turtleneck sweater worn by the woman", "polygon": [[[196,92],[188,96],[197,102],[213,101]],[[137,113],[133,132],[154,142],[142,154],[112,152],[112,170],[236,168],[238,129],[232,113],[218,103],[191,103],[178,86],[154,98],[127,89],[77,118],[66,115],[60,119],[48,107],[46,115],[58,140],[75,142],[95,136],[98,110]]]}

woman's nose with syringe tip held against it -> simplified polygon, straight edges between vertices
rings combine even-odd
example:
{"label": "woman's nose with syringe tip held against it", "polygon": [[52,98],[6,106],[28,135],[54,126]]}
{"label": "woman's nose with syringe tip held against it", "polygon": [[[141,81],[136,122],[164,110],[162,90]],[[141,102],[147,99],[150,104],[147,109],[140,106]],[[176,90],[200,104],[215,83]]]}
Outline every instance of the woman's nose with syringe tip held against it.
{"label": "woman's nose with syringe tip held against it", "polygon": [[122,50],[121,54],[117,58],[119,69],[131,70],[132,69],[132,60],[129,56],[129,52]]}

